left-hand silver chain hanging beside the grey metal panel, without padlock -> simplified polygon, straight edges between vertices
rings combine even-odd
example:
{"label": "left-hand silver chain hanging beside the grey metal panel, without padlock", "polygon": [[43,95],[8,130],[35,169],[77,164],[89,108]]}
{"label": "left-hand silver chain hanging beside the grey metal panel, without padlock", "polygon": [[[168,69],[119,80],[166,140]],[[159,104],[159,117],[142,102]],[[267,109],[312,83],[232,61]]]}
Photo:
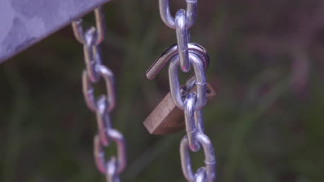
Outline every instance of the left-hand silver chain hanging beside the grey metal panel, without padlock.
{"label": "left-hand silver chain hanging beside the grey metal panel, without padlock", "polygon": [[[126,150],[123,134],[111,126],[109,114],[116,104],[114,74],[105,65],[102,65],[99,44],[104,38],[105,26],[102,9],[94,10],[96,28],[91,27],[86,32],[82,28],[82,19],[72,22],[72,28],[77,39],[83,44],[86,69],[82,73],[82,88],[87,106],[96,112],[98,134],[94,137],[93,153],[97,168],[106,174],[107,182],[119,182],[118,175],[126,166]],[[100,78],[105,81],[107,93],[98,99],[94,96],[92,83],[98,83]],[[105,147],[114,141],[117,145],[117,156],[105,159]]]}

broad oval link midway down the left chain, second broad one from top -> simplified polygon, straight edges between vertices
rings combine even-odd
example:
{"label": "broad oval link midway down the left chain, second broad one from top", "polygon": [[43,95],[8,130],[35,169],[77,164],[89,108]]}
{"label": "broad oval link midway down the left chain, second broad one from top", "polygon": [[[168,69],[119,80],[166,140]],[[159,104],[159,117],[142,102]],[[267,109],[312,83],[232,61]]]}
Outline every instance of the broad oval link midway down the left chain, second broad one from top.
{"label": "broad oval link midway down the left chain, second broad one from top", "polygon": [[[105,65],[96,65],[96,70],[100,77],[105,80],[106,90],[107,90],[107,100],[108,100],[108,107],[107,111],[110,112],[115,108],[116,105],[116,94],[114,89],[114,74],[111,72],[109,68]],[[97,101],[94,96],[93,86],[91,85],[91,81],[88,77],[87,71],[84,70],[82,74],[82,90],[84,94],[84,100],[86,101],[88,108],[92,111],[98,110],[97,108]]]}

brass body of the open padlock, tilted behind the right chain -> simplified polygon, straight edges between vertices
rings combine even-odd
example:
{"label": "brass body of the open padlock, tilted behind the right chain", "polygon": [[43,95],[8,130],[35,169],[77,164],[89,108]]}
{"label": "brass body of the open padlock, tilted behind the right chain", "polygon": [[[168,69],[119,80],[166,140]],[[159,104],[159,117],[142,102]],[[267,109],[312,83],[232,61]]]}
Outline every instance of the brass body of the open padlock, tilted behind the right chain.
{"label": "brass body of the open padlock, tilted behind the right chain", "polygon": [[[206,83],[206,94],[208,101],[213,99],[216,92],[209,83]],[[195,91],[193,87],[190,91]],[[170,92],[154,108],[143,122],[150,134],[172,134],[185,128],[183,110],[177,108],[173,103]]]}

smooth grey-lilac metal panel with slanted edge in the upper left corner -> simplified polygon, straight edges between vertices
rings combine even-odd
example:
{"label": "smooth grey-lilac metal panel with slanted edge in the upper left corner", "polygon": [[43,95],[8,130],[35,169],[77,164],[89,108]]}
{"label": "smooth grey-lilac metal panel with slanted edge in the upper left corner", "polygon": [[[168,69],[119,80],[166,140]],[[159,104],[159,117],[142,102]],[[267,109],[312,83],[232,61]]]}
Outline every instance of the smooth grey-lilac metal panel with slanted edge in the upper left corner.
{"label": "smooth grey-lilac metal panel with slanted edge in the upper left corner", "polygon": [[1,0],[0,63],[110,0]]}

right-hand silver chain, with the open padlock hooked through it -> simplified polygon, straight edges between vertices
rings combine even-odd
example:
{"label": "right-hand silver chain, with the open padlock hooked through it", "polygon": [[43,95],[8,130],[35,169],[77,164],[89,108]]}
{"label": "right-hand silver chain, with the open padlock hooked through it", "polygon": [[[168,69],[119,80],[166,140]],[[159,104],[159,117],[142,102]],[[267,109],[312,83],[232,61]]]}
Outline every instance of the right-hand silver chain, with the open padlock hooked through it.
{"label": "right-hand silver chain, with the open padlock hooked through it", "polygon": [[[159,0],[159,10],[161,19],[170,28],[176,30],[177,52],[178,54],[170,58],[169,83],[170,93],[173,102],[178,108],[183,110],[186,122],[186,136],[183,136],[180,143],[181,168],[183,175],[190,182],[213,182],[216,178],[215,165],[216,158],[213,144],[206,134],[204,134],[204,119],[201,109],[206,105],[206,61],[200,54],[190,52],[190,35],[188,28],[193,25],[197,17],[197,0],[186,0],[186,10],[180,9],[173,18],[170,14],[169,0]],[[162,61],[161,61],[162,62]],[[163,61],[163,65],[166,61]],[[156,72],[161,68],[154,65],[149,76],[154,78]],[[196,92],[188,92],[183,98],[181,92],[178,68],[183,72],[189,72],[191,67],[195,71]],[[205,166],[192,172],[189,150],[197,152],[200,148],[204,150]]]}

